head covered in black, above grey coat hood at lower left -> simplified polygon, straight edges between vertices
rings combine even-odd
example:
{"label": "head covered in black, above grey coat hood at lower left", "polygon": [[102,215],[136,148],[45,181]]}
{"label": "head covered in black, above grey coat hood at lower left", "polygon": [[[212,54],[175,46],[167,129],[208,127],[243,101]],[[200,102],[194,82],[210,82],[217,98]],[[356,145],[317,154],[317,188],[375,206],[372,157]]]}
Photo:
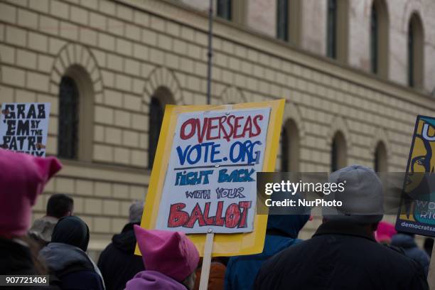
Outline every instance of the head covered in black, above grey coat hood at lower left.
{"label": "head covered in black, above grey coat hood at lower left", "polygon": [[76,216],[68,216],[58,221],[53,230],[51,242],[72,245],[86,252],[89,238],[89,227],[86,223]]}

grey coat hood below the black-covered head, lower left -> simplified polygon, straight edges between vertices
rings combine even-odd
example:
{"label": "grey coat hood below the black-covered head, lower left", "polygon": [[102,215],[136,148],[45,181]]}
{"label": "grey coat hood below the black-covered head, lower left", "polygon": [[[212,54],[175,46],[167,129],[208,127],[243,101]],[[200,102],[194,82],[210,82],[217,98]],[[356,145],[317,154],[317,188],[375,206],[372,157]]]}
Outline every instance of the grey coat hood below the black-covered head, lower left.
{"label": "grey coat hood below the black-covered head, lower left", "polygon": [[53,272],[60,272],[75,265],[94,270],[94,264],[82,249],[60,242],[50,242],[39,252],[39,259]]}

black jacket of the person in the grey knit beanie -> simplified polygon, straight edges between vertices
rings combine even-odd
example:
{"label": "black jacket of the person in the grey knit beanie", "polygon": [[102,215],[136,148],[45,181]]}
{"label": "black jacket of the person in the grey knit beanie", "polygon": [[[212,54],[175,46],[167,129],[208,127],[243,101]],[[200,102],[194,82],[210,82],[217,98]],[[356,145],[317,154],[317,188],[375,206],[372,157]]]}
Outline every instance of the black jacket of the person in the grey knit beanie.
{"label": "black jacket of the person in the grey knit beanie", "polygon": [[254,289],[429,289],[417,262],[377,244],[363,227],[323,223],[310,240],[276,254]]}

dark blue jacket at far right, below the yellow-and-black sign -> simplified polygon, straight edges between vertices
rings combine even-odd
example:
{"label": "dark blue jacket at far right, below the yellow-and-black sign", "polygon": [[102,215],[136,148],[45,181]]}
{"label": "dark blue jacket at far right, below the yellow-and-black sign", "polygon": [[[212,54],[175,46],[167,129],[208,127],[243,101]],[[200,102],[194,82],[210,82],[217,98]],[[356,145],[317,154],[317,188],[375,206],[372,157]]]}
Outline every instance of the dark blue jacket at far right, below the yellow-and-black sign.
{"label": "dark blue jacket at far right, below the yellow-and-black sign", "polygon": [[427,272],[429,271],[429,255],[417,246],[412,235],[396,234],[391,239],[391,245],[402,247],[407,257],[414,259],[423,266],[424,273],[427,276]]}

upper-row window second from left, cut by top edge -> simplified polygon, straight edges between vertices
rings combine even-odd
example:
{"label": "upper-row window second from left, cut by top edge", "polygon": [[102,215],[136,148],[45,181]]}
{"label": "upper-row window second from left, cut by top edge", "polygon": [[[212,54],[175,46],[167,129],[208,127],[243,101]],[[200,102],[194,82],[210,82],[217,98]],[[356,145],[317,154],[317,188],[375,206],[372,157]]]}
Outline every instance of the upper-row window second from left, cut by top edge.
{"label": "upper-row window second from left, cut by top edge", "polygon": [[301,36],[301,0],[276,1],[276,38],[299,44]]}

